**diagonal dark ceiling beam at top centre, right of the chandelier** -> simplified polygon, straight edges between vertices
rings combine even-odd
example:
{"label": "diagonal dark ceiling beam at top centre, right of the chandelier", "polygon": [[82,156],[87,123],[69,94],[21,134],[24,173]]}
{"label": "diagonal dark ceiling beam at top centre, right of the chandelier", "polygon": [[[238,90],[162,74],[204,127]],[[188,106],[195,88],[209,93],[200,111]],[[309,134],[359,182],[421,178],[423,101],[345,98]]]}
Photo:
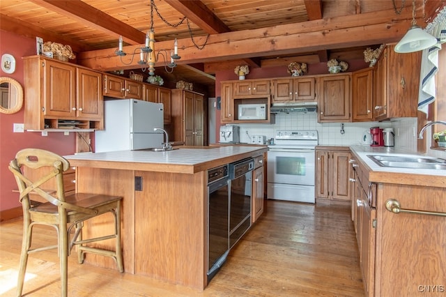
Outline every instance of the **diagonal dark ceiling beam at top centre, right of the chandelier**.
{"label": "diagonal dark ceiling beam at top centre, right of the chandelier", "polygon": [[201,1],[190,0],[164,0],[170,6],[183,13],[189,20],[199,26],[208,34],[229,32],[226,26],[206,5]]}

